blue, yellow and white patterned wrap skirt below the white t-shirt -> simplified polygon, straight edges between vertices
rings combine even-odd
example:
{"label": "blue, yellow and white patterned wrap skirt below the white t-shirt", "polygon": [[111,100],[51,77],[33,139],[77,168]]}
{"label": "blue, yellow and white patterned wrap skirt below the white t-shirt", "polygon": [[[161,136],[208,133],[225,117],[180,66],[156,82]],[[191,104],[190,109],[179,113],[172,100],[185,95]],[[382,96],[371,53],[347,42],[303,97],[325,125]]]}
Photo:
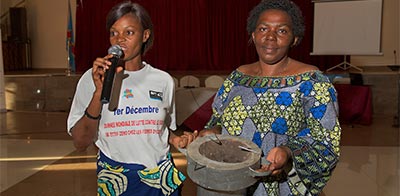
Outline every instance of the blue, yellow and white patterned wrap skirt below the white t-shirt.
{"label": "blue, yellow and white patterned wrap skirt below the white t-shirt", "polygon": [[98,196],[178,196],[185,180],[171,160],[171,155],[155,168],[114,161],[99,151],[97,157]]}

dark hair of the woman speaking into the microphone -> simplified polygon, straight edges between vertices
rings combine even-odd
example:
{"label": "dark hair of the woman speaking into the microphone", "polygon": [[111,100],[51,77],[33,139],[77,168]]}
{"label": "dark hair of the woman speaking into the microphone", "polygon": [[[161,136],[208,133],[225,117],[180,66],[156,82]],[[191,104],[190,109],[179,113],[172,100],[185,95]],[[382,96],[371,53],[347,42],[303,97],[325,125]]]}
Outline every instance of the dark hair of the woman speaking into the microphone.
{"label": "dark hair of the woman speaking into the microphone", "polygon": [[147,41],[143,43],[142,46],[141,53],[145,54],[153,46],[154,27],[149,13],[141,5],[133,3],[131,1],[125,1],[115,5],[107,14],[106,28],[109,31],[112,25],[126,14],[132,14],[133,16],[136,16],[139,19],[143,30],[150,30],[149,39],[147,39]]}

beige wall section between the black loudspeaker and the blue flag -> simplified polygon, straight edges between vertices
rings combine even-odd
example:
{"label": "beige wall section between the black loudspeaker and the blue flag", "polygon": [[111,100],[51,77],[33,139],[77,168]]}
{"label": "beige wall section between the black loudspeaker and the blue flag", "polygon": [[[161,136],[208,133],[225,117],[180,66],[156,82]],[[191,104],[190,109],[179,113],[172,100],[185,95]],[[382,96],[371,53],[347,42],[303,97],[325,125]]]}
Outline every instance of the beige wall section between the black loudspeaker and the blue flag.
{"label": "beige wall section between the black loudspeaker and the blue flag", "polygon": [[[74,18],[75,7],[75,0],[71,0]],[[32,42],[32,67],[67,69],[68,0],[27,0],[26,9]]]}

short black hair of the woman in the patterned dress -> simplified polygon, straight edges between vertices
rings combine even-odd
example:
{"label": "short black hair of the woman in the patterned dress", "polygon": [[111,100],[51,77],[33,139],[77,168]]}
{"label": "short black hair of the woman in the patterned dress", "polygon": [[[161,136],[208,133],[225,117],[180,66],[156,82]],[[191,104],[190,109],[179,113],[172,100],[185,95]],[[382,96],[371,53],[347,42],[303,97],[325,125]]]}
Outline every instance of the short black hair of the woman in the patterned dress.
{"label": "short black hair of the woman in the patterned dress", "polygon": [[293,23],[293,35],[298,37],[296,44],[299,44],[304,37],[306,27],[300,8],[290,0],[262,0],[249,13],[247,33],[251,35],[256,30],[257,21],[261,13],[270,9],[282,10],[290,16]]}

